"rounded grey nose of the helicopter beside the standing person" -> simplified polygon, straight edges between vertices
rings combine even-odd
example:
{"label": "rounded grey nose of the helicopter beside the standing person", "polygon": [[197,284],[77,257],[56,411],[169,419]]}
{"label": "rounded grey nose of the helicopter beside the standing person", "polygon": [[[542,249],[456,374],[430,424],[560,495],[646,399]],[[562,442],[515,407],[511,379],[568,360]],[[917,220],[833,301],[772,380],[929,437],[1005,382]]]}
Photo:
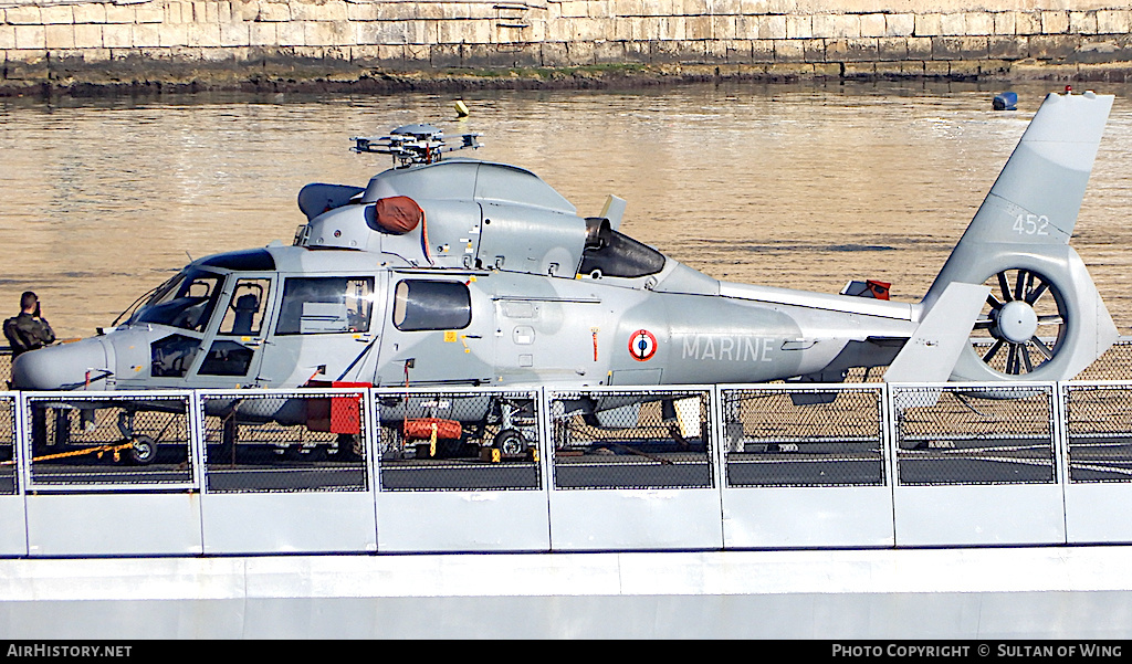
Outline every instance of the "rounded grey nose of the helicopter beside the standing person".
{"label": "rounded grey nose of the helicopter beside the standing person", "polygon": [[[11,365],[14,389],[105,389],[103,380],[113,368],[113,351],[100,338],[48,346],[24,353]],[[89,372],[89,378],[87,377]]]}

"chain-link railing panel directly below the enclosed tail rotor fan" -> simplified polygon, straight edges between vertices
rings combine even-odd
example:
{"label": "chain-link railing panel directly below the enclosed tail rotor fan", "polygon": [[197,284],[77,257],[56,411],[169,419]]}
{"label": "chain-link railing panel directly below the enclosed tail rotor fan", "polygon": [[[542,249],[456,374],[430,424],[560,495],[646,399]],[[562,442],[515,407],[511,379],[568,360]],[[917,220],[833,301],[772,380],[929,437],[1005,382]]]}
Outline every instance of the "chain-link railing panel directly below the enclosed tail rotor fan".
{"label": "chain-link railing panel directly below the enclosed tail rotor fan", "polygon": [[893,387],[899,483],[1055,483],[1053,399],[1053,386]]}

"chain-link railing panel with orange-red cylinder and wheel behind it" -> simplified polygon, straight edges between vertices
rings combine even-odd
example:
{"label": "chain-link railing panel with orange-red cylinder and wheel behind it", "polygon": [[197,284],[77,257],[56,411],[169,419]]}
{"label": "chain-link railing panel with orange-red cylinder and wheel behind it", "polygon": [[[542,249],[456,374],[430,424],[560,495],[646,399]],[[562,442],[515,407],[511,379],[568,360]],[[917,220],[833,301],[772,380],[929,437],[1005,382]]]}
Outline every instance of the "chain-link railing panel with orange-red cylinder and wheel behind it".
{"label": "chain-link railing panel with orange-red cylinder and wheel behind it", "polygon": [[539,394],[375,391],[383,491],[541,489]]}

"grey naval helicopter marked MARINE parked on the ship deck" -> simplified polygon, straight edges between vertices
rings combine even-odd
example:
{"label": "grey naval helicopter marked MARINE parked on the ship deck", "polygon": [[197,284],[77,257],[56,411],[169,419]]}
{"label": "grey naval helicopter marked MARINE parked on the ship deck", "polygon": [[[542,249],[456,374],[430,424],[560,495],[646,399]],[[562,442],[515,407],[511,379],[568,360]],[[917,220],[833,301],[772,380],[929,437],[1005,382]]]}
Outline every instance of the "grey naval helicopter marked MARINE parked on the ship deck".
{"label": "grey naval helicopter marked MARINE parked on the ship deck", "polygon": [[[112,331],[22,355],[14,387],[573,389],[838,382],[861,367],[887,381],[1069,379],[1117,337],[1069,247],[1112,103],[1048,95],[919,303],[875,283],[714,279],[623,234],[624,200],[582,217],[529,171],[445,158],[478,135],[355,138],[394,167],[365,188],[305,187],[292,245],[194,261]],[[285,399],[261,411],[241,416],[302,421]],[[492,397],[472,419],[500,411]]]}

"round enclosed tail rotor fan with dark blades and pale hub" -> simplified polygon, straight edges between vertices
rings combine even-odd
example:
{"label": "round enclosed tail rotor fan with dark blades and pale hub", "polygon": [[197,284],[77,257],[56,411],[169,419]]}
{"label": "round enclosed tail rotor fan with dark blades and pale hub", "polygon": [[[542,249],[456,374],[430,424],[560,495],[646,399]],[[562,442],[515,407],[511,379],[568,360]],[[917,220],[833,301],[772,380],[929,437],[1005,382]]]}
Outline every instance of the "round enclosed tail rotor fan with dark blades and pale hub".
{"label": "round enclosed tail rotor fan with dark blades and pale hub", "polygon": [[1023,268],[1004,269],[986,285],[990,294],[974,331],[975,338],[981,333],[990,343],[975,348],[983,362],[1000,373],[1021,376],[1053,360],[1069,327],[1065,299],[1057,286]]}

